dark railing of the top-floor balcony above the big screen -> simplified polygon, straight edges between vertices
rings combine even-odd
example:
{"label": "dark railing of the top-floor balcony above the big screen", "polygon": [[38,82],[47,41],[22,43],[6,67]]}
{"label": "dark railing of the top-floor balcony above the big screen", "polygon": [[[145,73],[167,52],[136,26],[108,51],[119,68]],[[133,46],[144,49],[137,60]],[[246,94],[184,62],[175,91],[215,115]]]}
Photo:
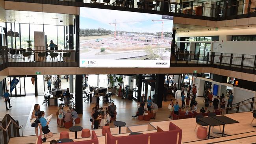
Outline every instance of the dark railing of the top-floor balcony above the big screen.
{"label": "dark railing of the top-floor balcony above the big screen", "polygon": [[235,3],[215,4],[195,2],[189,0],[6,0],[14,2],[31,2],[40,4],[54,4],[64,6],[95,7],[103,9],[116,9],[173,15],[180,17],[224,20],[245,17],[256,17],[256,0]]}

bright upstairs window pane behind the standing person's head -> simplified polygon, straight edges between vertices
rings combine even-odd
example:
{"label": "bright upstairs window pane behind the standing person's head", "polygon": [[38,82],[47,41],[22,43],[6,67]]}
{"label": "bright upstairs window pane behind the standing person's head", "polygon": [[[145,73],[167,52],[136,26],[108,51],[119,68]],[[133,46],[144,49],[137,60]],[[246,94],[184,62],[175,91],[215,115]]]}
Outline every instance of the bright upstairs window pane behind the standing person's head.
{"label": "bright upstairs window pane behind the standing person's head", "polygon": [[47,44],[50,44],[52,40],[55,44],[57,44],[57,26],[54,25],[44,25],[45,35],[47,36]]}

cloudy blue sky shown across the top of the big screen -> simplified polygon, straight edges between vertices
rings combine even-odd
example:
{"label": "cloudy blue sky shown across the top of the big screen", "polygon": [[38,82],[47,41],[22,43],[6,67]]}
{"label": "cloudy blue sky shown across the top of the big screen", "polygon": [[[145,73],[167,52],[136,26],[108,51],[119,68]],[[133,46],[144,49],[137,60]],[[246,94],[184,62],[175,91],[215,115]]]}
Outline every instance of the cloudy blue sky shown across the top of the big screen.
{"label": "cloudy blue sky shown across the top of the big screen", "polygon": [[[152,20],[162,20],[161,15],[148,13],[135,13],[128,11],[117,11],[109,9],[96,9],[89,7],[80,7],[80,28],[115,30],[117,22],[117,31],[132,32],[161,32],[162,22]],[[164,20],[163,31],[173,31],[173,20]]]}

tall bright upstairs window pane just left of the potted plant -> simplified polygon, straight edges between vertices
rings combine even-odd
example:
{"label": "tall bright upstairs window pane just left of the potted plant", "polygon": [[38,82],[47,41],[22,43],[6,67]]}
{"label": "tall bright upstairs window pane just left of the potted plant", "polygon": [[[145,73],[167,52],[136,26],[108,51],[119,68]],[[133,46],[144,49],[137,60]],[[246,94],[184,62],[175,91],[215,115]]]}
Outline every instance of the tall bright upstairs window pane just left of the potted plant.
{"label": "tall bright upstairs window pane just left of the potted plant", "polygon": [[21,48],[28,48],[29,41],[29,28],[28,24],[20,24],[20,39],[21,39]]}

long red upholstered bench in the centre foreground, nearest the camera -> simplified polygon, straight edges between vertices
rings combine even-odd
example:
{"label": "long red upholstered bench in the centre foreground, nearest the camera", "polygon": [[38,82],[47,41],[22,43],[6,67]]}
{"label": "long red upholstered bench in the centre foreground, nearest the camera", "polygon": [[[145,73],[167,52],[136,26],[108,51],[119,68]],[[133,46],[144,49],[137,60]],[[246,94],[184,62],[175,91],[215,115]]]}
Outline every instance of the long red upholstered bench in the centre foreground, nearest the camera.
{"label": "long red upholstered bench in the centre foreground, nearest the camera", "polygon": [[181,144],[182,129],[170,122],[169,131],[114,137],[107,131],[106,144]]}

